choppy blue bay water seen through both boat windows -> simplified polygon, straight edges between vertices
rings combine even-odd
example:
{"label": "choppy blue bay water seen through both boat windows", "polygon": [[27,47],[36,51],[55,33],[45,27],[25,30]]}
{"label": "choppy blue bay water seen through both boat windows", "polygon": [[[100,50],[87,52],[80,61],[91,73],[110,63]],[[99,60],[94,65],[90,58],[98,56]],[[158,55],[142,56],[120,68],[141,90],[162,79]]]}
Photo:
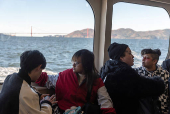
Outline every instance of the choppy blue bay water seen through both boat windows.
{"label": "choppy blue bay water seen through both boat windows", "polygon": [[[135,65],[141,66],[140,51],[143,48],[159,48],[162,55],[159,64],[168,52],[168,40],[112,39],[112,42],[128,44],[135,56]],[[93,50],[93,39],[54,37],[0,37],[0,80],[19,69],[19,56],[26,50],[39,50],[47,60],[45,71],[56,74],[71,68],[72,55],[80,49]]]}

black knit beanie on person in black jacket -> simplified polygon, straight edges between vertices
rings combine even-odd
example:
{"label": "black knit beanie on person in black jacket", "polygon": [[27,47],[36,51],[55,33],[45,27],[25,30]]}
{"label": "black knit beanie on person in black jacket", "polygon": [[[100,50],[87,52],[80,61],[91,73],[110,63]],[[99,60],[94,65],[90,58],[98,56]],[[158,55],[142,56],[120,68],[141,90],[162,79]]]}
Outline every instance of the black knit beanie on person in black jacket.
{"label": "black knit beanie on person in black jacket", "polygon": [[119,60],[120,57],[124,54],[128,45],[118,44],[116,42],[112,43],[108,48],[109,57],[111,59]]}

